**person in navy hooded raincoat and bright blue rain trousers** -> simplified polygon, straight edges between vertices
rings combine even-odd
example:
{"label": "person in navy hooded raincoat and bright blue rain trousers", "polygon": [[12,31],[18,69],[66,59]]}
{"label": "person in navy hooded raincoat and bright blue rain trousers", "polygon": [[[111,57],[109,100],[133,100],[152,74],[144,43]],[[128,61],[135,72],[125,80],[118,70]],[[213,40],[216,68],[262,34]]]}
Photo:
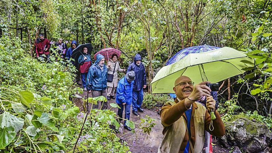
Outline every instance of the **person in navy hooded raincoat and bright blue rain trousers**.
{"label": "person in navy hooded raincoat and bright blue rain trousers", "polygon": [[143,112],[143,88],[147,87],[146,70],[142,64],[142,57],[140,54],[135,55],[134,62],[130,64],[127,72],[129,71],[135,72],[134,87],[132,91],[132,113],[138,116],[138,111]]}

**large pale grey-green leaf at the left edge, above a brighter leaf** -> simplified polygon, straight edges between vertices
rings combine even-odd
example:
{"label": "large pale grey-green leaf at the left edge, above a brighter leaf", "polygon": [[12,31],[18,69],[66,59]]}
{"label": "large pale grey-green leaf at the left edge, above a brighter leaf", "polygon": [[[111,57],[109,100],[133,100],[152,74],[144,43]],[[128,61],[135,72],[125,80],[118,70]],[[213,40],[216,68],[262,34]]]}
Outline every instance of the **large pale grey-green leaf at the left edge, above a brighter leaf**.
{"label": "large pale grey-green leaf at the left edge, above a brighter leaf", "polygon": [[1,128],[4,127],[14,127],[15,132],[23,129],[23,119],[16,117],[8,112],[4,112],[0,115]]}

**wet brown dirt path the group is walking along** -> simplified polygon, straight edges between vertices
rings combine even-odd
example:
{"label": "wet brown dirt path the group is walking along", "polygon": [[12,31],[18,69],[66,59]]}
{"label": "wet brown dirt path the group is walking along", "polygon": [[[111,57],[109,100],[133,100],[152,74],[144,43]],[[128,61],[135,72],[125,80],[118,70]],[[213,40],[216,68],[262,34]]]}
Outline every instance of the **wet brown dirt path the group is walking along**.
{"label": "wet brown dirt path the group is walking along", "polygon": [[[87,98],[87,92],[83,92],[83,94],[81,94],[80,96],[82,96],[83,98]],[[91,96],[91,93],[89,93],[89,96]],[[75,105],[77,105],[80,110],[83,110],[83,102],[81,99],[79,98],[75,98],[74,100]],[[109,100],[109,103],[115,103],[115,100],[111,99]],[[99,104],[99,108],[101,107],[101,104]],[[108,104],[108,108],[110,108],[110,105]],[[113,110],[115,112],[117,112],[117,108],[113,108]],[[125,112],[125,111],[124,111]],[[145,118],[146,115],[148,115],[149,117],[155,119],[155,126],[154,128],[152,128],[152,132],[150,133],[150,135],[148,135],[148,137],[141,137],[140,134],[137,134],[137,136],[139,136],[137,139],[141,140],[139,142],[133,142],[133,140],[135,139],[135,134],[132,134],[130,131],[123,129],[123,134],[125,134],[123,136],[121,136],[122,134],[117,134],[117,136],[121,136],[120,138],[125,140],[126,142],[128,142],[128,146],[130,146],[130,151],[132,153],[150,153],[150,152],[157,152],[158,151],[158,147],[159,144],[163,138],[163,126],[161,124],[160,121],[160,116],[157,113],[156,110],[149,110],[149,109],[144,109],[143,113],[139,113],[139,116],[136,116],[132,113],[132,107],[130,109],[130,120],[134,121],[136,123],[141,123],[141,118]],[[124,117],[124,113],[123,113],[123,117]],[[124,123],[124,121],[122,121],[122,123]],[[135,125],[135,128],[137,128],[137,125]],[[213,142],[216,143],[216,142]],[[215,145],[213,146],[213,152],[214,153],[229,153],[230,149],[225,149],[220,145]],[[232,151],[231,151],[232,152]]]}

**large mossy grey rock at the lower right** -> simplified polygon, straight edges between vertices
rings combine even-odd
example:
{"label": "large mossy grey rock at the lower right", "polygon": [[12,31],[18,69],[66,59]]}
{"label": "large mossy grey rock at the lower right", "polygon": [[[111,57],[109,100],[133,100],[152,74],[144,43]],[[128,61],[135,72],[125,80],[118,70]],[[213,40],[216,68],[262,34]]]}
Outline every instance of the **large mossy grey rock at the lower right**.
{"label": "large mossy grey rock at the lower right", "polygon": [[224,147],[237,146],[245,152],[271,152],[272,135],[266,125],[240,116],[224,125],[226,134],[219,138]]}

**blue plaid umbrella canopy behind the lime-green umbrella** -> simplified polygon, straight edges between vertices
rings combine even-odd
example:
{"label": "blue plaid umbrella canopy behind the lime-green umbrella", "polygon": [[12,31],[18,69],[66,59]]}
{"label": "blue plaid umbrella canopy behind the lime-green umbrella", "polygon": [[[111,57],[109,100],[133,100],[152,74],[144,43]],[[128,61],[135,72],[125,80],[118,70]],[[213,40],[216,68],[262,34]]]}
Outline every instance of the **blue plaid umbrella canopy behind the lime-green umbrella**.
{"label": "blue plaid umbrella canopy behind the lime-green umbrella", "polygon": [[210,50],[219,49],[220,47],[210,46],[210,45],[201,45],[201,46],[193,46],[182,49],[181,51],[177,52],[173,57],[171,57],[165,65],[173,64],[185,56],[189,55],[190,53],[204,53]]}

